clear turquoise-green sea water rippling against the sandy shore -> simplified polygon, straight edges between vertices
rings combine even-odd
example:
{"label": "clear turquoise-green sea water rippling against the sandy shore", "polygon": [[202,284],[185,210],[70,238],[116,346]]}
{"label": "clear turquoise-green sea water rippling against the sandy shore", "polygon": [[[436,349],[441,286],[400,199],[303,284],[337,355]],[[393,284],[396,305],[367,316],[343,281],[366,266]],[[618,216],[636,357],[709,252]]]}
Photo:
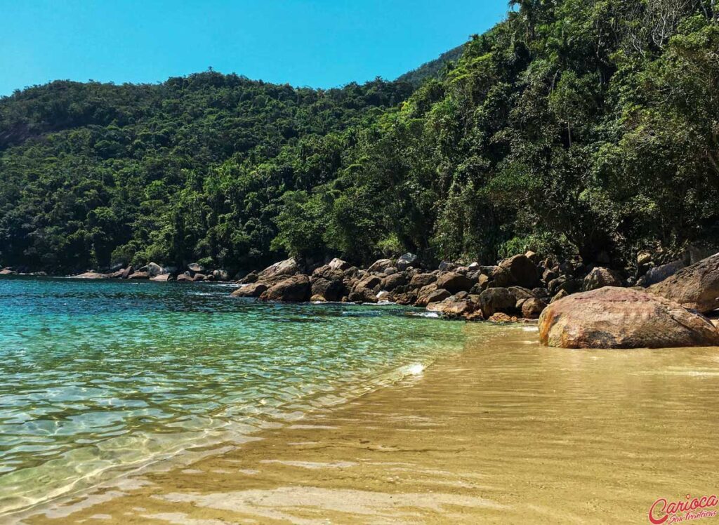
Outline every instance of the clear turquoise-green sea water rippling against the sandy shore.
{"label": "clear turquoise-green sea water rippling against the sandy shore", "polygon": [[0,278],[0,513],[418,370],[462,323],[212,284]]}

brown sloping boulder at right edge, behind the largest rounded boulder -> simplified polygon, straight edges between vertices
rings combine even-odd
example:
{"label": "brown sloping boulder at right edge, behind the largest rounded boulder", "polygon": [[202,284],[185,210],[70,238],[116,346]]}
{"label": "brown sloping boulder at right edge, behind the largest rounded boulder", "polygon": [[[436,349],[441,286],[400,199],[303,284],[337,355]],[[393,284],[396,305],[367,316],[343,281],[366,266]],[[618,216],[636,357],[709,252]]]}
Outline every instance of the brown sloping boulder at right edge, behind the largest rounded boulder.
{"label": "brown sloping boulder at right edge, behind the largest rounded boulder", "polygon": [[719,253],[679,270],[647,290],[702,314],[719,309]]}

